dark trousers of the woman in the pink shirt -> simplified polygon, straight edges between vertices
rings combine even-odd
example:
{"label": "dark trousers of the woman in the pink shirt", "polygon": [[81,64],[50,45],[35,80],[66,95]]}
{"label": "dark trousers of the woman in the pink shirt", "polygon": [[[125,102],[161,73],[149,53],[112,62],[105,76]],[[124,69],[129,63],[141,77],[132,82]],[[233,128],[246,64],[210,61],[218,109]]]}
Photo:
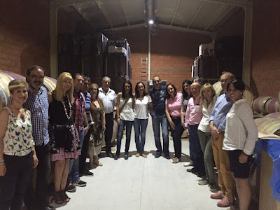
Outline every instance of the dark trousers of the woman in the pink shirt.
{"label": "dark trousers of the woman in the pink shirt", "polygon": [[182,141],[181,136],[183,134],[184,128],[181,124],[181,118],[180,117],[171,117],[172,122],[175,124],[175,130],[172,130],[171,135],[173,138],[173,144],[174,144],[174,151],[175,151],[175,157],[181,158],[182,154]]}

